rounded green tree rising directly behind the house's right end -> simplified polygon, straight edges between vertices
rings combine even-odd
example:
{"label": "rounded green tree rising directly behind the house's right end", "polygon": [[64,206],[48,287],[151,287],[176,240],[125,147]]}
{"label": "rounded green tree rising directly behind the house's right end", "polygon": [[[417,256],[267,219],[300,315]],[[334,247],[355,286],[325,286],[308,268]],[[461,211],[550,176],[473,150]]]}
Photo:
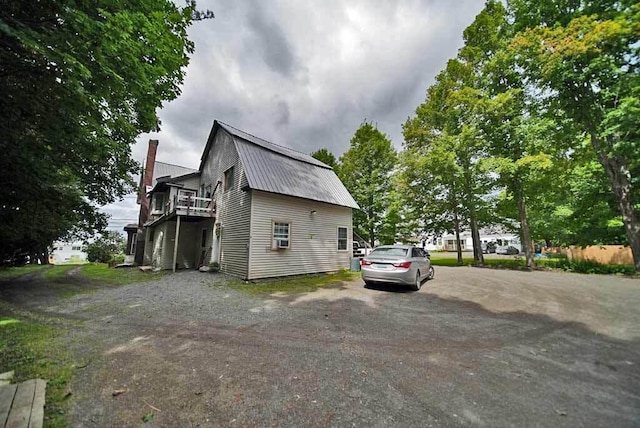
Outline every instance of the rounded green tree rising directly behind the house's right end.
{"label": "rounded green tree rising directly behind the house's right end", "polygon": [[354,211],[356,233],[375,246],[389,208],[391,174],[396,151],[391,140],[371,123],[364,122],[340,157],[340,178],[360,205]]}

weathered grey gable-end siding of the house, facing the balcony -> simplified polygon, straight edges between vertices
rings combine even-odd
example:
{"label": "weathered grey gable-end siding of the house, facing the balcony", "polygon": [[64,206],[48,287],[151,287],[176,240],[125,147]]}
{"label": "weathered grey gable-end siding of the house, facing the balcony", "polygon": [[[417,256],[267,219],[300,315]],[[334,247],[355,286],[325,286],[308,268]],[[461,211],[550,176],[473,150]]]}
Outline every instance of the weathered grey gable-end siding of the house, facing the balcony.
{"label": "weathered grey gable-end siding of the house, facing the balcony", "polygon": [[[224,172],[234,167],[234,187],[224,190]],[[220,269],[230,275],[247,277],[251,194],[240,190],[247,184],[243,167],[232,137],[220,129],[207,155],[201,171],[201,184],[218,187],[216,201],[216,223],[220,223]]]}

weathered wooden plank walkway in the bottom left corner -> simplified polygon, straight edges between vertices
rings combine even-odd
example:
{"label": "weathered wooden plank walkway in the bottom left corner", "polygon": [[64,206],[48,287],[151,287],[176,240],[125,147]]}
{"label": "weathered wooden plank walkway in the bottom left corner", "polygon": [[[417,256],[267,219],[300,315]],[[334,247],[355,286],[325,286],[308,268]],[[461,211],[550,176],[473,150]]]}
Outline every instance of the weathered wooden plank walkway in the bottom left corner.
{"label": "weathered wooden plank walkway in the bottom left corner", "polygon": [[40,428],[44,419],[47,381],[30,379],[0,386],[0,427]]}

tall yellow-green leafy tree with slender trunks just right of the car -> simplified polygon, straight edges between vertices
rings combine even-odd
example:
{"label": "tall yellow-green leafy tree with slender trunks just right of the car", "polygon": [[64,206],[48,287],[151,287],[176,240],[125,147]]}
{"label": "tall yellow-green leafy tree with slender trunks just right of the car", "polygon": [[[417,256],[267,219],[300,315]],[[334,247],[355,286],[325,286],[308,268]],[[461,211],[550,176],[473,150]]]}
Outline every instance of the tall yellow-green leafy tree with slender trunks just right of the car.
{"label": "tall yellow-green leafy tree with slender trunks just right of the car", "polygon": [[[468,218],[474,258],[483,263],[479,218],[486,205],[482,197],[488,193],[491,179],[484,167],[487,153],[479,126],[483,104],[477,80],[473,63],[461,55],[450,60],[436,77],[436,83],[427,90],[427,99],[416,110],[416,117],[405,123],[404,136],[407,147],[422,147],[422,155],[435,159],[436,163],[450,162],[450,167],[443,170],[448,176],[437,181],[443,185],[448,183],[444,189],[448,199],[458,201],[459,205],[445,206],[453,210],[457,219],[454,223],[458,226],[462,217]],[[450,194],[454,189],[455,197]],[[427,189],[435,190],[434,187]],[[459,235],[459,230],[456,234]],[[458,243],[461,261],[460,247]]]}

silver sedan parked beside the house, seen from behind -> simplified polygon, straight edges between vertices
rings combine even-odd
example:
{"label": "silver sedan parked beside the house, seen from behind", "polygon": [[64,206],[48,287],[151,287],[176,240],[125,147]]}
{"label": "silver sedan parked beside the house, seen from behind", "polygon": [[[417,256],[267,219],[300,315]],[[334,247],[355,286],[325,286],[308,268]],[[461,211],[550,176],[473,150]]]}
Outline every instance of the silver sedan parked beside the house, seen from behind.
{"label": "silver sedan parked beside the house, seen from behind", "polygon": [[411,245],[382,245],[360,262],[362,279],[369,286],[375,282],[405,284],[420,290],[422,282],[434,277],[428,253]]}

